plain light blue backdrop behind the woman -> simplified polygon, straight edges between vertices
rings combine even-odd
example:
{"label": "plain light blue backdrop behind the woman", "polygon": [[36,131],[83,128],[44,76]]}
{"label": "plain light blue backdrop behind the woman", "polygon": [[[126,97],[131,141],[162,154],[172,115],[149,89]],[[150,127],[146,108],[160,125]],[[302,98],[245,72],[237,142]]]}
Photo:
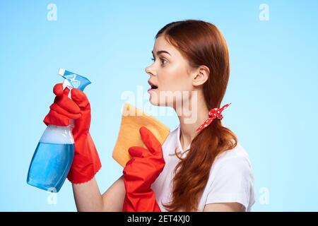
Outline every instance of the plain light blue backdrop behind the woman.
{"label": "plain light blue backdrop behind the woman", "polygon": [[[47,5],[57,20],[47,20]],[[269,21],[259,20],[268,4]],[[318,210],[317,1],[1,1],[0,210],[75,211],[66,181],[49,204],[26,184],[45,130],[42,119],[61,82],[60,67],[90,78],[90,133],[102,160],[104,192],[121,174],[112,160],[126,90],[148,89],[154,36],[175,20],[214,23],[230,48],[231,75],[223,124],[252,161],[254,211]],[[146,105],[147,98],[143,100]],[[170,129],[176,115],[158,116]],[[269,203],[259,201],[262,188]]]}

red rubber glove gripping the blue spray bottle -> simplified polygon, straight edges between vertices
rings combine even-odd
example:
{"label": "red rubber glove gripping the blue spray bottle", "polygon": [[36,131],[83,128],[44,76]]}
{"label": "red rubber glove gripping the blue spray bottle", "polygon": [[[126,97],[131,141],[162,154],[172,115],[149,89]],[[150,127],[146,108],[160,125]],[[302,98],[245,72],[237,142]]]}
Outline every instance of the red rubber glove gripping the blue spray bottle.
{"label": "red rubber glove gripping the blue spray bottle", "polygon": [[72,130],[75,153],[67,178],[73,184],[81,184],[93,179],[100,167],[100,157],[90,136],[90,102],[85,93],[73,88],[71,98],[69,88],[63,90],[63,84],[54,85],[57,95],[49,107],[49,113],[43,120],[46,125],[68,126],[75,119]]}

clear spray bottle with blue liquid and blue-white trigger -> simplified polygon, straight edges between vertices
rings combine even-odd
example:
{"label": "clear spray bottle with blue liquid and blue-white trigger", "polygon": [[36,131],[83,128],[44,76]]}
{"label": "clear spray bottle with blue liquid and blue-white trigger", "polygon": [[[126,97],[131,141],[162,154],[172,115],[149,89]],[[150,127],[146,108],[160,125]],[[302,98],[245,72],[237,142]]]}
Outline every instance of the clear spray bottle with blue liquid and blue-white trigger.
{"label": "clear spray bottle with blue liquid and blue-white trigger", "polygon": [[[63,89],[70,89],[69,98],[72,88],[83,91],[90,84],[88,78],[64,69],[59,69],[59,76],[64,78]],[[73,119],[69,126],[47,126],[30,163],[28,184],[46,191],[59,192],[73,161],[73,126]]]}

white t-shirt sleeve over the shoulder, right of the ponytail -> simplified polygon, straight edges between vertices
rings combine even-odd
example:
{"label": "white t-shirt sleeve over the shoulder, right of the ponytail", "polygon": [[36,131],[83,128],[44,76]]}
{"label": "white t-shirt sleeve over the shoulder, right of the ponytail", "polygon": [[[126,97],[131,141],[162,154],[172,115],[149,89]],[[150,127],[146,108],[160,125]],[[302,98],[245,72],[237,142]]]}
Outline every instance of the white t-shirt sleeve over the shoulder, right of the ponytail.
{"label": "white t-shirt sleeve over the shoulder, right of the ponytail", "polygon": [[237,143],[213,163],[208,182],[207,203],[241,203],[250,210],[254,203],[254,175],[245,148]]}

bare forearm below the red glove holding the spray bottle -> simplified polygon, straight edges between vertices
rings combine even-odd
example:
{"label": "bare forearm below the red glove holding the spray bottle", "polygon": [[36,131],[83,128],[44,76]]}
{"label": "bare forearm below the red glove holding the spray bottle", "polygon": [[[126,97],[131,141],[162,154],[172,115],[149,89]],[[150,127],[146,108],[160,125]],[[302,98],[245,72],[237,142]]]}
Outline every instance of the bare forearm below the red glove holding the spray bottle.
{"label": "bare forearm below the red glove holding the spray bottle", "polygon": [[102,211],[103,202],[95,177],[83,184],[72,184],[76,208],[80,212]]}

